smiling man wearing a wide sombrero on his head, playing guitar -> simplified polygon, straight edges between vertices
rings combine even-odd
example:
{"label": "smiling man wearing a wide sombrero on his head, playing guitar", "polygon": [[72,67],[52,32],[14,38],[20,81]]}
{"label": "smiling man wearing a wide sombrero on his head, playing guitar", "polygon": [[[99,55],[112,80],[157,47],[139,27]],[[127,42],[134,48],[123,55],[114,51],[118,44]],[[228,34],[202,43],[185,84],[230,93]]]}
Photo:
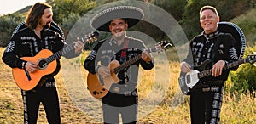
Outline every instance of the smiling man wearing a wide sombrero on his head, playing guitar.
{"label": "smiling man wearing a wide sombrero on his head, playing guitar", "polygon": [[[117,60],[122,65],[142,54],[141,59],[134,64],[119,70],[119,82],[113,83],[108,93],[101,98],[104,123],[119,123],[119,115],[122,116],[123,123],[137,122],[138,66],[141,65],[144,70],[151,70],[154,67],[154,59],[148,52],[142,52],[146,47],[141,40],[126,36],[126,30],[142,20],[143,15],[140,8],[119,6],[96,14],[90,21],[96,30],[112,33],[111,37],[98,42],[84,61],[84,68],[91,74],[97,74],[99,80],[113,75],[108,68],[111,61]],[[102,92],[95,91],[93,94],[101,95]]]}

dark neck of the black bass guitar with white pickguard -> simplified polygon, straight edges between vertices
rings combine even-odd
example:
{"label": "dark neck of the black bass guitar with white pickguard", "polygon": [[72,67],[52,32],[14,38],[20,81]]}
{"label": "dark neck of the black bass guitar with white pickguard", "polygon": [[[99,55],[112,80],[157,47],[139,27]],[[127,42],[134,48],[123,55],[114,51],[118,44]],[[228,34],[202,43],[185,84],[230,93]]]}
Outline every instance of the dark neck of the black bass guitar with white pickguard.
{"label": "dark neck of the black bass guitar with white pickguard", "polygon": [[[245,63],[245,59],[241,59],[241,60],[238,60],[236,62],[224,65],[224,70],[228,70],[230,68],[233,68],[233,67],[235,67],[237,65],[241,65],[243,63]],[[210,76],[210,75],[212,75],[211,70],[203,70],[200,73],[198,73],[198,78],[201,79],[203,77]]]}

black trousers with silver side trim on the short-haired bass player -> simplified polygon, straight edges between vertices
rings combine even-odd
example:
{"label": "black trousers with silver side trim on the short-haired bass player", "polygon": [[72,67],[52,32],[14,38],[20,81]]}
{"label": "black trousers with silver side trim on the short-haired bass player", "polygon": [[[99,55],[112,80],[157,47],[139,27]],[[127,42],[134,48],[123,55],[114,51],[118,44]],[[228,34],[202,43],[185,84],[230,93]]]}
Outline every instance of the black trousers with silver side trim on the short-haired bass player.
{"label": "black trousers with silver side trim on the short-haired bass player", "polygon": [[222,86],[198,89],[190,95],[191,124],[218,124],[223,99]]}

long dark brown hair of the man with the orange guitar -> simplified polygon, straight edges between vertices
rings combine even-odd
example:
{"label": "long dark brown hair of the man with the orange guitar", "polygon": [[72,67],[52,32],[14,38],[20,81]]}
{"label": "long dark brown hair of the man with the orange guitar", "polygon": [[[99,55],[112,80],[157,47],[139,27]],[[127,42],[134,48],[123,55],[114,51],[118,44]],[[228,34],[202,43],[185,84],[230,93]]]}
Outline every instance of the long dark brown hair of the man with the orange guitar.
{"label": "long dark brown hair of the man with the orange guitar", "polygon": [[52,8],[47,3],[35,3],[32,8],[30,8],[29,12],[26,14],[25,24],[30,29],[35,29],[38,25],[38,21],[44,14],[44,9]]}

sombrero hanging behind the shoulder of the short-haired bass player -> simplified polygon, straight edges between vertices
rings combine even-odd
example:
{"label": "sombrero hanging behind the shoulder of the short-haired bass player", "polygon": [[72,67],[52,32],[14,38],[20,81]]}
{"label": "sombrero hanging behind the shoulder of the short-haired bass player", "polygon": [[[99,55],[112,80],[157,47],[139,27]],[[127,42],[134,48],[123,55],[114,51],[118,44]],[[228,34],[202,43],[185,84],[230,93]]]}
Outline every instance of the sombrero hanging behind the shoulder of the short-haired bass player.
{"label": "sombrero hanging behind the shoulder of the short-haired bass player", "polygon": [[241,28],[231,22],[218,22],[218,31],[230,33],[235,38],[236,54],[239,59],[242,59],[246,48],[246,38],[241,31]]}

